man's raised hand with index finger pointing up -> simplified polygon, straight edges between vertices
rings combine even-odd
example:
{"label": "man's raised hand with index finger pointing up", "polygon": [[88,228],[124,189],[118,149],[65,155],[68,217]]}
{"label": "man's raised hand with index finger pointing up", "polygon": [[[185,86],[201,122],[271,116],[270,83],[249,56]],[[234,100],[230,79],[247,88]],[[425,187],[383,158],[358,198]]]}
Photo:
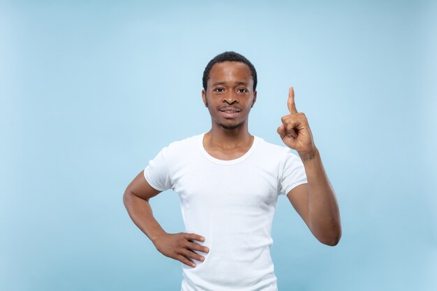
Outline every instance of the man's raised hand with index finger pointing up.
{"label": "man's raised hand with index finger pointing up", "polygon": [[297,112],[293,87],[288,90],[287,107],[290,114],[281,117],[282,125],[279,126],[277,132],[283,143],[295,149],[301,158],[313,156],[316,152],[316,145],[305,114]]}

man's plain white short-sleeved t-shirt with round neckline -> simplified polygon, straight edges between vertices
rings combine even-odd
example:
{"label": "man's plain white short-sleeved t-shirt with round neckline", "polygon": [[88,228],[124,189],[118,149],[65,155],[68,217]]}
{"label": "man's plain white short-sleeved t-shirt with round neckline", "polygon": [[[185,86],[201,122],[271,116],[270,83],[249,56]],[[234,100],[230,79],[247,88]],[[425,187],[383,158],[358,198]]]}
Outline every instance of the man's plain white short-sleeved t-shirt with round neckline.
{"label": "man's plain white short-sleeved t-shirt with round neckline", "polygon": [[272,219],[278,195],[306,183],[304,165],[288,147],[256,136],[243,156],[218,160],[203,135],[172,142],[144,170],[150,186],[179,194],[185,232],[209,247],[195,268],[182,264],[182,291],[277,290]]}

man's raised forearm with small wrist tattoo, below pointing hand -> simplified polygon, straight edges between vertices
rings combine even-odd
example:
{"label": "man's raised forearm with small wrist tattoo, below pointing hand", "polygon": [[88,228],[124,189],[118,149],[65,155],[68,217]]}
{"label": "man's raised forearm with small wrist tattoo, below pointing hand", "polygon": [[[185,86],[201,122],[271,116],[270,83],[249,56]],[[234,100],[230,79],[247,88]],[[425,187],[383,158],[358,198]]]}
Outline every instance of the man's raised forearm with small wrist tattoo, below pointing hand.
{"label": "man's raised forearm with small wrist tattoo, below pointing hand", "polygon": [[339,207],[318,149],[301,156],[308,180],[308,214],[311,232],[323,244],[335,245],[341,237]]}

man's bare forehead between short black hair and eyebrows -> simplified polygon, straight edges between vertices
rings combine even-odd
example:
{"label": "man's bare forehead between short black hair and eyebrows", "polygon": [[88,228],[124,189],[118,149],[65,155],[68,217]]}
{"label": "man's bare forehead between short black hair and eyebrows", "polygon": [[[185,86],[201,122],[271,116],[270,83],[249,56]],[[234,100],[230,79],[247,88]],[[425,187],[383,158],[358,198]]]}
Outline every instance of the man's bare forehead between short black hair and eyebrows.
{"label": "man's bare forehead between short black hair and eyebrows", "polygon": [[209,72],[209,82],[246,82],[253,84],[251,69],[239,61],[214,64]]}

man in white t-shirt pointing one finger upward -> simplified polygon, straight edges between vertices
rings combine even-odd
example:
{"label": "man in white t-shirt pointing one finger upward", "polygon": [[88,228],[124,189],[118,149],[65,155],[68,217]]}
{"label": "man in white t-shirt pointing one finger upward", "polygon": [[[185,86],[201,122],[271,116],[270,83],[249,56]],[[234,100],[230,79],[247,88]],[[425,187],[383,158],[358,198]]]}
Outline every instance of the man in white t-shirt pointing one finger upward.
{"label": "man in white t-shirt pointing one finger upward", "polygon": [[[294,90],[277,130],[287,146],[280,147],[249,133],[256,84],[255,68],[241,54],[209,61],[202,100],[211,130],[162,149],[124,193],[135,225],[163,255],[183,263],[184,291],[277,290],[269,249],[279,194],[323,244],[334,246],[341,237],[334,191]],[[166,233],[149,205],[170,188],[181,198],[182,233]]]}

